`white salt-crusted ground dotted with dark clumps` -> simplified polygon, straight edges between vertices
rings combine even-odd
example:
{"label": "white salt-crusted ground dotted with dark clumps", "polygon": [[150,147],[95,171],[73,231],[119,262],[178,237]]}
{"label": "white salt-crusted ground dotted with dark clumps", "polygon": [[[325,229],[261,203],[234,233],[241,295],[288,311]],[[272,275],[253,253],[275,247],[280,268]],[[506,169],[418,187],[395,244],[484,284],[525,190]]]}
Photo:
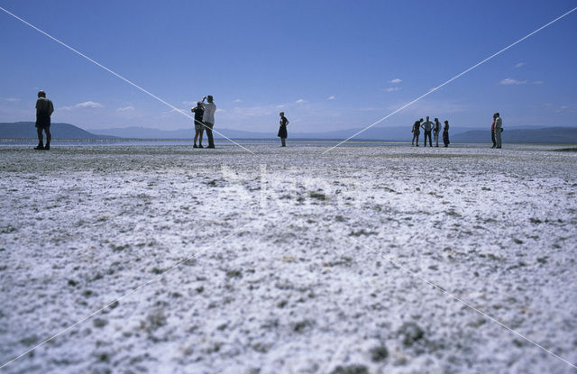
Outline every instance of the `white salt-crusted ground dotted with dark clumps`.
{"label": "white salt-crusted ground dotted with dark clumps", "polygon": [[577,372],[577,153],[250,148],[0,147],[1,363],[193,257],[0,373]]}

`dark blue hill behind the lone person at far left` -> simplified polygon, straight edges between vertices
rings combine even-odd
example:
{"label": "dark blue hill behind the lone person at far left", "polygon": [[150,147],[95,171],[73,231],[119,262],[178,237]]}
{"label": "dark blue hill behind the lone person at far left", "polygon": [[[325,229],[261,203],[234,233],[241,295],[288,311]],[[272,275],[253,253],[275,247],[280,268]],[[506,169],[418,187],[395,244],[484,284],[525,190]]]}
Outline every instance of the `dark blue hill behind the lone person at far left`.
{"label": "dark blue hill behind the lone person at far left", "polygon": [[[87,132],[70,123],[52,123],[50,132],[54,139],[117,139]],[[0,139],[36,139],[36,127],[33,122],[0,123]]]}

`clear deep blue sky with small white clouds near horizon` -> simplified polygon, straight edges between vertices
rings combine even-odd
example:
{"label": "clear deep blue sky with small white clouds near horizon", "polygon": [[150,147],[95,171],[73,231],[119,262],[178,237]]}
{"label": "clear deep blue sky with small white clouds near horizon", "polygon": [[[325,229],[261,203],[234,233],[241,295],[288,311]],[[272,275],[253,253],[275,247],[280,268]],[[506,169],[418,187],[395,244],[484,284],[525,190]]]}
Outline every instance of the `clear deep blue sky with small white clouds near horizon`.
{"label": "clear deep blue sky with small white clouds near horizon", "polygon": [[[19,1],[0,6],[216,128],[367,126],[577,6],[577,1]],[[0,122],[175,130],[191,120],[0,11]],[[577,126],[577,11],[379,126]]]}

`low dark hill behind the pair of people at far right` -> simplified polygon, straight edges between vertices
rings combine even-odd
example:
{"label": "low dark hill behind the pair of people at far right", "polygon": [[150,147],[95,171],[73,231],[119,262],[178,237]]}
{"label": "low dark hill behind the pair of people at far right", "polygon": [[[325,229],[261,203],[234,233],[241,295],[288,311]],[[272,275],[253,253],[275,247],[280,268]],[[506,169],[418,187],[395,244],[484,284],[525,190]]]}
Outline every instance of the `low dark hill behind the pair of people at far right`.
{"label": "low dark hill behind the pair of people at far right", "polygon": [[[577,128],[547,127],[543,129],[508,129],[503,128],[504,142],[514,143],[577,143]],[[472,130],[455,133],[451,136],[454,142],[490,142],[490,130]]]}

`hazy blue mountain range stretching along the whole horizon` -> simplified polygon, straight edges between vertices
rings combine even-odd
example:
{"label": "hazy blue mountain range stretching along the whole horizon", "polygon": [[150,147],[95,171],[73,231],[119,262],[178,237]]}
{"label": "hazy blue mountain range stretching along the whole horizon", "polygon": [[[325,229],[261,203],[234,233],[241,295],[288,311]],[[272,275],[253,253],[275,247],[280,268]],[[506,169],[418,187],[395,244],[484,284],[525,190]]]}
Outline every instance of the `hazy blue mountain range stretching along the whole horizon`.
{"label": "hazy blue mountain range stretching along the whole horizon", "polygon": [[[159,130],[144,127],[124,127],[86,131],[69,123],[52,123],[50,130],[55,139],[191,139],[192,128],[181,130]],[[245,132],[242,130],[215,128],[231,139],[276,139],[277,129],[271,132]],[[338,130],[332,132],[290,132],[289,139],[344,140],[362,129]],[[0,139],[35,139],[36,129],[32,122],[0,123]],[[215,133],[216,139],[224,139]],[[410,141],[410,126],[372,127],[354,137],[364,141]],[[451,130],[452,142],[490,142],[488,129]],[[423,140],[421,132],[420,141]],[[527,143],[577,143],[577,127],[505,128],[505,142]]]}

